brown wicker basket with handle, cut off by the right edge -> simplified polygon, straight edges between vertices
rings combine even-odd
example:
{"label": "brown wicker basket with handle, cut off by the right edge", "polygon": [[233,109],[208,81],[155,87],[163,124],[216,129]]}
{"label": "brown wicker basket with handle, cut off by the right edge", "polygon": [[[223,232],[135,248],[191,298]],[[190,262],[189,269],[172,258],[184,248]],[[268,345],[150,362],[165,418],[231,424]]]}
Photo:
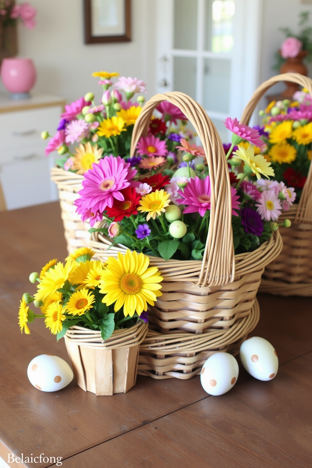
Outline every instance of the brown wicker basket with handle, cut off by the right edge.
{"label": "brown wicker basket with handle, cut off by the right edge", "polygon": [[[299,73],[277,75],[259,86],[241,117],[248,124],[261,97],[278,81],[292,81],[309,90],[312,95],[312,80]],[[298,204],[283,213],[291,220],[291,227],[281,228],[283,250],[262,275],[259,291],[280,296],[312,296],[312,165]],[[281,217],[281,219],[283,219]]]}

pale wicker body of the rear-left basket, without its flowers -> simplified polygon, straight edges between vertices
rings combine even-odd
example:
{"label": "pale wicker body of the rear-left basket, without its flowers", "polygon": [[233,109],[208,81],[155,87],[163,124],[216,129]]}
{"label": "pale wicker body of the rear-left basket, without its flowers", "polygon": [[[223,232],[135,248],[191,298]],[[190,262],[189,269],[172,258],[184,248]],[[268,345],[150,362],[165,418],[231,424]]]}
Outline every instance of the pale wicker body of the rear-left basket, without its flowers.
{"label": "pale wicker body of the rear-left basket, without its flowers", "polygon": [[68,254],[79,247],[88,247],[90,225],[81,221],[80,215],[76,213],[76,206],[73,205],[74,200],[79,197],[77,192],[82,189],[83,176],[62,168],[51,168],[51,180],[58,186]]}

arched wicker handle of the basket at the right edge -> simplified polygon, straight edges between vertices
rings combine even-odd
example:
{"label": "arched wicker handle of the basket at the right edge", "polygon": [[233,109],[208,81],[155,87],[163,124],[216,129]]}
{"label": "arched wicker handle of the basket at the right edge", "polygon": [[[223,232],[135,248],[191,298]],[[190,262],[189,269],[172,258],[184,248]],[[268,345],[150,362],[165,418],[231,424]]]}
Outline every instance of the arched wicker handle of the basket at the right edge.
{"label": "arched wicker handle of the basket at the right edge", "polygon": [[[297,83],[298,85],[307,88],[310,95],[312,96],[312,80],[307,76],[303,76],[300,73],[283,73],[281,75],[276,75],[270,78],[267,81],[264,81],[259,88],[257,88],[252,95],[250,101],[248,102],[243,115],[241,116],[240,122],[248,124],[250,117],[252,116],[256,105],[260,101],[261,97],[266,93],[268,88],[275,85],[279,81],[291,81]],[[309,173],[305,182],[304,189],[302,190],[302,195],[300,197],[297,212],[295,216],[295,222],[303,222],[307,219],[312,218],[312,164],[310,164]],[[310,220],[311,222],[311,220]]]}

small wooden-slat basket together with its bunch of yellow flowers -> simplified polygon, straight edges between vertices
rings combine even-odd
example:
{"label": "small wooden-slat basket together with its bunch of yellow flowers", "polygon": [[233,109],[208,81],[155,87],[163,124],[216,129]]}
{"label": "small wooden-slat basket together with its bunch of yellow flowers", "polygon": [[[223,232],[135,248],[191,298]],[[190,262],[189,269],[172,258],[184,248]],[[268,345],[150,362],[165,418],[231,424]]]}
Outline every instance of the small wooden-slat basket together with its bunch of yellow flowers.
{"label": "small wooden-slat basket together with its bunch of yellow flowers", "polygon": [[[148,267],[143,253],[128,250],[105,264],[92,260],[93,255],[91,249],[76,249],[65,264],[53,259],[40,274],[32,273],[30,281],[39,284],[33,296],[23,295],[19,324],[29,334],[28,324],[43,318],[57,339],[65,336],[78,385],[97,395],[112,395],[135,384],[138,346],[147,332],[147,303],[154,305],[161,296],[163,278],[157,268]],[[40,314],[29,308],[33,301]],[[94,368],[104,358],[106,366]]]}

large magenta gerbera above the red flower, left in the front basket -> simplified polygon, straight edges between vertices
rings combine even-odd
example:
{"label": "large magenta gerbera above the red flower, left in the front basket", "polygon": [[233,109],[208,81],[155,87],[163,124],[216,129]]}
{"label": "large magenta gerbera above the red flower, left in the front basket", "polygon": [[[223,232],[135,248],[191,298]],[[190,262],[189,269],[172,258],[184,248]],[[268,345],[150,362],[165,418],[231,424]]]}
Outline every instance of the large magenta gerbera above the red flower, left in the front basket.
{"label": "large magenta gerbera above the red flower, left in the front basket", "polygon": [[[103,213],[107,206],[113,206],[114,198],[123,201],[120,190],[131,185],[130,181],[136,173],[137,170],[130,169],[130,163],[126,163],[120,156],[111,155],[100,159],[84,174],[83,189],[78,192],[82,200],[80,207],[93,213]],[[78,206],[76,201],[74,205]]]}

